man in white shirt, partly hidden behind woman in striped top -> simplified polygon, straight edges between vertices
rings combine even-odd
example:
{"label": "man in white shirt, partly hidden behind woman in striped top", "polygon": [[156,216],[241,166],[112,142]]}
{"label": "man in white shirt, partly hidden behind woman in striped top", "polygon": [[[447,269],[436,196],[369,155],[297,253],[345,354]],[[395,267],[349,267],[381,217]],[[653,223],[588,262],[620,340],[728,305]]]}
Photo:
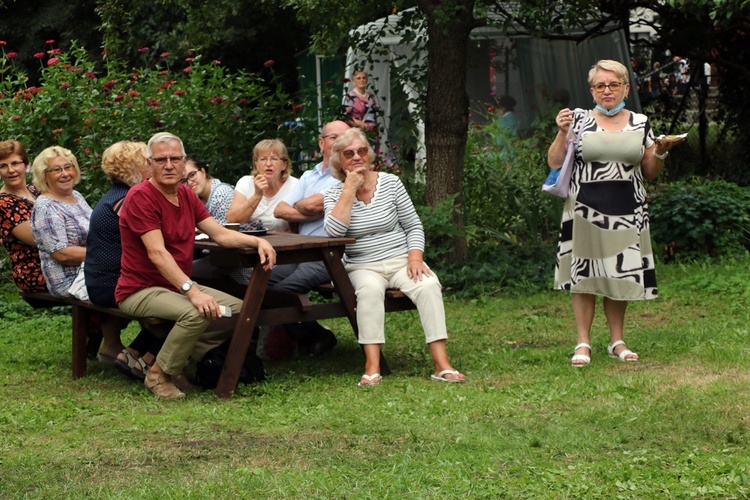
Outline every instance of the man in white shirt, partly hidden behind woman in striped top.
{"label": "man in white shirt, partly hidden behind woman in striped top", "polygon": [[[323,192],[338,182],[328,169],[328,161],[333,142],[348,128],[343,121],[323,126],[318,138],[323,161],[302,174],[292,191],[276,205],[274,216],[299,223],[300,234],[328,236],[323,229]],[[303,262],[277,266],[271,273],[268,287],[279,292],[307,293],[330,281],[323,262]],[[290,324],[285,328],[293,340],[307,347],[311,356],[319,356],[336,345],[336,336],[317,322]]]}

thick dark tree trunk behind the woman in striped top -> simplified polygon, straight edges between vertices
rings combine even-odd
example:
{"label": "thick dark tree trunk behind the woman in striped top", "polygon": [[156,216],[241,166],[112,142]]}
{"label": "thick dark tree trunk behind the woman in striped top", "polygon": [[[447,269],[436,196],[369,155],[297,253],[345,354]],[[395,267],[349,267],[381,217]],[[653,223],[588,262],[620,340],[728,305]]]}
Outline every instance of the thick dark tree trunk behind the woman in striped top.
{"label": "thick dark tree trunk behind the woman in striped top", "polygon": [[[425,106],[426,201],[434,207],[449,196],[458,195],[453,221],[460,235],[453,237],[454,250],[449,260],[460,262],[467,258],[462,182],[469,128],[466,64],[469,34],[474,27],[474,0],[418,0],[417,3],[427,16],[429,37]],[[443,4],[453,7],[442,8]],[[457,5],[462,8],[455,8]]]}

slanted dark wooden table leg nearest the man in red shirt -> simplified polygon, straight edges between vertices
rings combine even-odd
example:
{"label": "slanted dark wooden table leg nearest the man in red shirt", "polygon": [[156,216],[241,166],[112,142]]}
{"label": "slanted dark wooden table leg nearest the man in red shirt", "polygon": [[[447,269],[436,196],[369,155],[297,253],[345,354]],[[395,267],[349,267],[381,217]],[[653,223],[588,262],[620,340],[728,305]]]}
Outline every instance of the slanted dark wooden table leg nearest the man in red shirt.
{"label": "slanted dark wooden table leg nearest the man in red shirt", "polygon": [[255,263],[253,273],[250,276],[250,283],[245,290],[242,309],[237,316],[237,324],[234,327],[232,340],[229,344],[229,352],[224,360],[224,367],[214,391],[220,398],[231,398],[234,389],[237,387],[242,364],[245,362],[247,349],[252,341],[255,324],[258,321],[258,313],[263,304],[263,296],[266,293],[270,276],[270,270],[263,269],[258,262]]}

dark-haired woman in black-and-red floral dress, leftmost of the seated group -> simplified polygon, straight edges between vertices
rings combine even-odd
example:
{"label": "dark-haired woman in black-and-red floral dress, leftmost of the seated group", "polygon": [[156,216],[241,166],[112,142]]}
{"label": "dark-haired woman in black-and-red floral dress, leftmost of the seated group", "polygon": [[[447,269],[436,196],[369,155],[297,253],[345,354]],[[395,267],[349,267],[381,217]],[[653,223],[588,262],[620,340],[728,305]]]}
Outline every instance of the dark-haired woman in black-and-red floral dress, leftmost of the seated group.
{"label": "dark-haired woman in black-and-red floral dress, leftmost of the seated group", "polygon": [[13,281],[25,292],[46,292],[39,250],[31,232],[31,211],[41,194],[26,183],[29,156],[14,140],[0,142],[0,238],[13,265]]}

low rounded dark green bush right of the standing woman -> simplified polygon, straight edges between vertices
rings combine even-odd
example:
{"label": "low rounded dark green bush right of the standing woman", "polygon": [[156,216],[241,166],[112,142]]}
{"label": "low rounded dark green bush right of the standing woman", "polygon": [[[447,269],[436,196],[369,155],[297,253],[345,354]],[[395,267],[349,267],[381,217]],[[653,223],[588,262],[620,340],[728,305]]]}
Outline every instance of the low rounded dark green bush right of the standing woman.
{"label": "low rounded dark green bush right of the standing woman", "polygon": [[722,180],[662,186],[649,203],[654,249],[698,260],[750,250],[750,189]]}

